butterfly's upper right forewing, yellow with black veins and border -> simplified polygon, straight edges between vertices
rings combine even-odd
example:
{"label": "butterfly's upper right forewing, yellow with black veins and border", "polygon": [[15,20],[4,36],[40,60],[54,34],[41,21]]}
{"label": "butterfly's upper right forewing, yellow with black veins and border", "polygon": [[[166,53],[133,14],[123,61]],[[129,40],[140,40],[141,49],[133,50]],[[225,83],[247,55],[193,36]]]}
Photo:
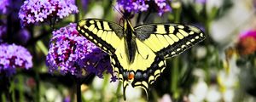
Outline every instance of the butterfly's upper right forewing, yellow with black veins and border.
{"label": "butterfly's upper right forewing, yellow with black veins and border", "polygon": [[134,29],[136,37],[164,59],[182,53],[206,37],[195,26],[179,24],[149,24]]}

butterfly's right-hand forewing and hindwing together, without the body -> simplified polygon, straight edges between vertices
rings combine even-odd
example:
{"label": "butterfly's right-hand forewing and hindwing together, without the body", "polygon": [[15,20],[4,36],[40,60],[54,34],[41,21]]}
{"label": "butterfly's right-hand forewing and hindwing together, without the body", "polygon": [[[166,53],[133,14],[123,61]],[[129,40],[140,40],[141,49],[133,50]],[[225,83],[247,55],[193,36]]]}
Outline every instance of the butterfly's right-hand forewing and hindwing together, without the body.
{"label": "butterfly's right-hand forewing and hindwing together, without the body", "polygon": [[195,26],[150,24],[134,29],[137,53],[131,65],[135,73],[131,85],[144,88],[146,94],[148,86],[166,68],[166,58],[182,53],[205,38],[202,31]]}

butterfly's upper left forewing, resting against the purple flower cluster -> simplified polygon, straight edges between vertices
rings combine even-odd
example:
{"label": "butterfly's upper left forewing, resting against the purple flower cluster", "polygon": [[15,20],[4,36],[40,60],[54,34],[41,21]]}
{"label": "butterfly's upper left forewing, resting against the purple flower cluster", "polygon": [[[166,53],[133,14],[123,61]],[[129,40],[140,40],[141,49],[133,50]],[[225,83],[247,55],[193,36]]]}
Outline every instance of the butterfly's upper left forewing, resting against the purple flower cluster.
{"label": "butterfly's upper left forewing, resting against the purple flower cluster", "polygon": [[114,54],[116,48],[119,47],[123,35],[123,27],[116,23],[98,19],[80,20],[78,31],[90,42],[96,43],[108,54]]}

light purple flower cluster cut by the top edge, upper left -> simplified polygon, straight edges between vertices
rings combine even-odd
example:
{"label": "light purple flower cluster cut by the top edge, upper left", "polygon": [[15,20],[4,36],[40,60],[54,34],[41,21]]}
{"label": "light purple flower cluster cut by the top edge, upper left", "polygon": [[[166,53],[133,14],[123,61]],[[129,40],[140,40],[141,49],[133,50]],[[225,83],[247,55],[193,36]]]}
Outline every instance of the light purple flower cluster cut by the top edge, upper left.
{"label": "light purple flower cluster cut by the top edge, upper left", "polygon": [[23,26],[37,24],[52,18],[64,18],[78,13],[74,0],[26,0],[20,7],[19,18]]}

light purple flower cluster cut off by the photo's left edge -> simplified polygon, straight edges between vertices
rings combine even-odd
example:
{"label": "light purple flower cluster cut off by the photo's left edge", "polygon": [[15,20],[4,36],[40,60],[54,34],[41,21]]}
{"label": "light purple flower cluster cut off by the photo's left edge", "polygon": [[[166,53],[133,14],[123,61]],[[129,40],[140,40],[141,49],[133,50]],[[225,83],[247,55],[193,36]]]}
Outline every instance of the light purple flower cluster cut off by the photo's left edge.
{"label": "light purple flower cluster cut off by the photo's left edge", "polygon": [[0,73],[10,76],[15,73],[15,68],[32,67],[32,55],[26,48],[15,44],[0,44]]}

